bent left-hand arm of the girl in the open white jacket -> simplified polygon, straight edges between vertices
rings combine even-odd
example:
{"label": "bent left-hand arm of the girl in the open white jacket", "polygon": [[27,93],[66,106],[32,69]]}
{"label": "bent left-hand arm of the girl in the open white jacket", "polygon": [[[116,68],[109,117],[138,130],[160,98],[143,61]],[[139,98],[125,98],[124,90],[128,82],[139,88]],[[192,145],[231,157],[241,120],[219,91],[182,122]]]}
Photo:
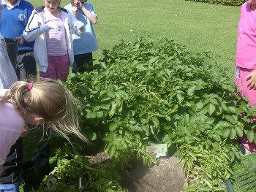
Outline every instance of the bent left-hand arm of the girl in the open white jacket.
{"label": "bent left-hand arm of the girl in the open white jacket", "polygon": [[59,24],[52,21],[42,25],[41,20],[39,20],[39,15],[34,13],[29,18],[29,24],[23,31],[23,37],[27,42],[32,42],[41,34],[45,33],[52,28],[59,29]]}

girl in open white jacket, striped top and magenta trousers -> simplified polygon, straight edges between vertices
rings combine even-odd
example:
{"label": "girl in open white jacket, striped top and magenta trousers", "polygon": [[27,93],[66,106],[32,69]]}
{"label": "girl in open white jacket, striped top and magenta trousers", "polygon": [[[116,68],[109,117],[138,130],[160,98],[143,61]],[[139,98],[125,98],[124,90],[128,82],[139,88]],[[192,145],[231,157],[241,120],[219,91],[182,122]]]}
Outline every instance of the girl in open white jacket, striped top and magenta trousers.
{"label": "girl in open white jacket, striped top and magenta trousers", "polygon": [[23,33],[26,41],[35,41],[34,56],[39,76],[66,80],[74,62],[72,34],[85,32],[82,22],[59,7],[60,0],[45,0],[45,6],[34,9]]}

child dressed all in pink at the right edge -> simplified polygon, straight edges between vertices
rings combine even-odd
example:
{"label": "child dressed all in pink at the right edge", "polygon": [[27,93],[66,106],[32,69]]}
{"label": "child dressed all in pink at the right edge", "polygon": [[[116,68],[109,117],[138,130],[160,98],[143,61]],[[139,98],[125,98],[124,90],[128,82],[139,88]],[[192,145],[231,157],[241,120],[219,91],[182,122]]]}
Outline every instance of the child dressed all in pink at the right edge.
{"label": "child dressed all in pink at the right edge", "polygon": [[[236,49],[236,84],[241,96],[249,99],[256,108],[256,0],[242,4],[238,24]],[[251,122],[254,120],[251,120]],[[255,143],[242,138],[242,144],[250,151],[256,151]]]}

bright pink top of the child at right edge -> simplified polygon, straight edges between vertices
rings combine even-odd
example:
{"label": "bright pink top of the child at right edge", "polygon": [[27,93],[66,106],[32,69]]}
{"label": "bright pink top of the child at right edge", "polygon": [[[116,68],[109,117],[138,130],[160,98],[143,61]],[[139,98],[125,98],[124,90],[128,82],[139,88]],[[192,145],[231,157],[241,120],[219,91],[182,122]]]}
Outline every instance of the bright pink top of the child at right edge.
{"label": "bright pink top of the child at right edge", "polygon": [[238,24],[238,38],[236,49],[236,66],[246,69],[256,69],[256,11],[251,5],[241,6]]}

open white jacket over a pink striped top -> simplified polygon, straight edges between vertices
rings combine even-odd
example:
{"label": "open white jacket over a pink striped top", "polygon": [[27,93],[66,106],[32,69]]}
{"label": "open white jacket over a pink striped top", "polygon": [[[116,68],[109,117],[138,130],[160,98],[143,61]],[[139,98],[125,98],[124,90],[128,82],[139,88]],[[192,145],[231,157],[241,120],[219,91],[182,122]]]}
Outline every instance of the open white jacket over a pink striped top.
{"label": "open white jacket over a pink striped top", "polygon": [[[24,39],[28,42],[34,41],[34,58],[39,64],[39,71],[46,72],[48,69],[48,55],[46,50],[46,41],[45,41],[45,6],[37,7],[32,12],[28,25],[23,31]],[[69,61],[72,65],[74,63],[74,54],[73,54],[73,43],[72,43],[72,34],[82,36],[83,32],[79,30],[82,25],[82,22],[77,20],[72,13],[68,12],[66,9],[61,9],[61,19],[63,20],[65,31],[66,31],[66,42],[67,42],[67,51],[69,54]],[[84,25],[83,25],[84,28]]]}

